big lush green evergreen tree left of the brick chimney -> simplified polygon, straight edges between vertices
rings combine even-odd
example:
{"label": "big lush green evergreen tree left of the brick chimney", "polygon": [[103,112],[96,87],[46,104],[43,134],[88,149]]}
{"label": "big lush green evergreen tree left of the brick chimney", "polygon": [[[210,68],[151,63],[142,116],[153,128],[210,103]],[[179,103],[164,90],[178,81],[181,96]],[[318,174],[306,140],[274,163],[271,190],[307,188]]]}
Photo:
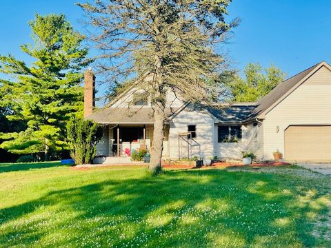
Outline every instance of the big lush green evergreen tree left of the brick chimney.
{"label": "big lush green evergreen tree left of the brick chimney", "polygon": [[12,80],[1,80],[1,106],[10,107],[10,121],[23,120],[21,132],[1,134],[0,147],[17,154],[59,151],[66,145],[66,121],[82,110],[80,86],[88,50],[84,37],[73,30],[63,14],[36,14],[29,23],[34,44],[21,50],[34,62],[27,65],[14,56],[0,56],[0,72]]}

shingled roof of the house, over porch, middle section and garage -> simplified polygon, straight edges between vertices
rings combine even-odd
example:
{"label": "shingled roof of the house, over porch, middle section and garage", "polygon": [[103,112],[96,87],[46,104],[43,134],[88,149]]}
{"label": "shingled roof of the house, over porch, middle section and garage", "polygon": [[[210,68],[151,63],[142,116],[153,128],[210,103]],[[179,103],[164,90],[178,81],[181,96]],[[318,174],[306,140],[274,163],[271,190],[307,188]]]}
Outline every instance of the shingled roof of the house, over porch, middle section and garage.
{"label": "shingled roof of the house, over porch, middle section and garage", "polygon": [[[291,90],[299,81],[310,74],[321,63],[313,65],[311,68],[292,76],[277,85],[268,95],[263,97],[259,103],[232,103],[229,105],[219,105],[221,107],[207,107],[207,110],[221,123],[243,123],[252,121],[260,114],[268,110],[274,103]],[[182,108],[185,108],[183,105]],[[174,112],[181,111],[179,108],[167,108],[167,118]],[[98,123],[153,123],[152,107],[103,107],[88,117]]]}

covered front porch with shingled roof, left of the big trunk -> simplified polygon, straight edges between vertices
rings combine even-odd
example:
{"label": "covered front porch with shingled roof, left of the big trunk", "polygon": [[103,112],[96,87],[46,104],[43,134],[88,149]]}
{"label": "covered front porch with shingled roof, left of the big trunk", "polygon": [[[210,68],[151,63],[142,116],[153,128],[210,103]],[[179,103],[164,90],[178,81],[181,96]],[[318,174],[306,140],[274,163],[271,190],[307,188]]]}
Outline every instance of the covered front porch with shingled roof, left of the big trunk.
{"label": "covered front porch with shingled roof, left of the big trunk", "polygon": [[[167,116],[173,110],[167,109]],[[151,152],[154,131],[152,107],[105,107],[88,118],[103,125],[94,163],[130,163],[132,151]],[[163,156],[169,156],[169,124],[165,125]]]}

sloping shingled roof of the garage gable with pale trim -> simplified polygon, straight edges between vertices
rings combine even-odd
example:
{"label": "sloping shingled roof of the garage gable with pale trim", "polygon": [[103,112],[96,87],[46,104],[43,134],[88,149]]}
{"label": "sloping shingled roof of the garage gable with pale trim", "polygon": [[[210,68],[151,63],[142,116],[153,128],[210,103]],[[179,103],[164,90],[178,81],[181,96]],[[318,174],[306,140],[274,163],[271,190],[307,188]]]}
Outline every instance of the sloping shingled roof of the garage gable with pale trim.
{"label": "sloping shingled roof of the garage gable with pale trim", "polygon": [[326,63],[325,61],[322,61],[321,63],[317,63],[316,65],[313,65],[311,68],[308,68],[304,70],[303,72],[300,72],[297,75],[294,75],[290,77],[290,79],[287,79],[277,85],[277,87],[274,88],[269,94],[263,97],[261,101],[259,101],[259,104],[255,108],[255,110],[248,116],[247,121],[250,121],[254,118],[265,118],[265,114],[270,112],[279,102],[281,102],[283,99],[285,99],[286,96],[288,96],[290,93],[292,93],[299,85],[301,85],[304,81],[306,81],[312,74],[317,72],[321,67],[325,66],[329,70],[331,70],[330,65]]}

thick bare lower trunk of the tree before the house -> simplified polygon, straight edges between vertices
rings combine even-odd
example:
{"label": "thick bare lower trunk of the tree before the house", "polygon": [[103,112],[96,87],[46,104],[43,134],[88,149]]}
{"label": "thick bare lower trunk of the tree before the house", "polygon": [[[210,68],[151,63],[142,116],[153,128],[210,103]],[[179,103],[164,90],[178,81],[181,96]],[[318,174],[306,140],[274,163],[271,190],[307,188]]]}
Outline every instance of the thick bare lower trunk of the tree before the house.
{"label": "thick bare lower trunk of the tree before the house", "polygon": [[155,105],[152,152],[150,164],[148,165],[150,172],[153,173],[158,173],[161,171],[161,158],[164,139],[164,119],[164,107],[161,104]]}

